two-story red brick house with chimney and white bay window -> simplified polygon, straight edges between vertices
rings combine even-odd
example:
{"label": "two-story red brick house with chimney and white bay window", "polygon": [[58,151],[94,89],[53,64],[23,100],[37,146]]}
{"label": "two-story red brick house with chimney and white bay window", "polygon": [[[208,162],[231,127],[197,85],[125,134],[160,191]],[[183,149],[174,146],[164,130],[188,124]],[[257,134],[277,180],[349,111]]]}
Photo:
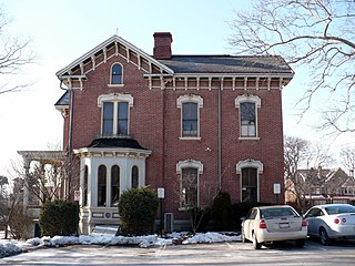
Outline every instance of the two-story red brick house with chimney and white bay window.
{"label": "two-story red brick house with chimney and white bay window", "polygon": [[275,203],[275,184],[284,193],[292,69],[281,57],[174,55],[172,41],[154,33],[150,55],[113,35],[57,73],[63,146],[72,167],[80,160],[62,187],[81,192],[82,233],[118,224],[120,194],[136,186],[164,188],[175,228],[220,190],[233,203]]}

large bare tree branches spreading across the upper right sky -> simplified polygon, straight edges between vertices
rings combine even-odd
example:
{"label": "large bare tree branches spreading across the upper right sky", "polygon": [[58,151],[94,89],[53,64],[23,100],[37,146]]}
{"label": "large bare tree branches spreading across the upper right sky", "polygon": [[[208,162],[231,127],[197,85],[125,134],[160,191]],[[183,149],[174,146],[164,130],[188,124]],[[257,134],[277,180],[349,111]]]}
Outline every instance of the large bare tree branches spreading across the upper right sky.
{"label": "large bare tree branches spreading across the upper right sky", "polygon": [[355,2],[353,0],[255,0],[231,22],[230,44],[239,53],[280,54],[305,66],[308,90],[301,115],[329,93],[322,129],[354,131]]}

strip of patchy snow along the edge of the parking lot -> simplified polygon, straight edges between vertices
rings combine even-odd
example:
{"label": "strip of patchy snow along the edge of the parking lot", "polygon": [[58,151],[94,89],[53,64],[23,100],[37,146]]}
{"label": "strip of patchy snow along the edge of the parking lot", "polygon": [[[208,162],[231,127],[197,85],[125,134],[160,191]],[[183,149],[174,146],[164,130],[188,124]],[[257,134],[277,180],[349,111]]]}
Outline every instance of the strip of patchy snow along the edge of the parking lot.
{"label": "strip of patchy snow along the edge of the parking lot", "polygon": [[139,245],[140,247],[164,246],[196,243],[217,243],[217,242],[239,242],[240,235],[230,233],[197,233],[193,236],[186,236],[186,232],[173,233],[166,235],[165,238],[158,235],[149,236],[44,236],[42,238],[31,238],[28,241],[0,239],[0,257],[21,253],[33,246],[58,247],[64,245]]}

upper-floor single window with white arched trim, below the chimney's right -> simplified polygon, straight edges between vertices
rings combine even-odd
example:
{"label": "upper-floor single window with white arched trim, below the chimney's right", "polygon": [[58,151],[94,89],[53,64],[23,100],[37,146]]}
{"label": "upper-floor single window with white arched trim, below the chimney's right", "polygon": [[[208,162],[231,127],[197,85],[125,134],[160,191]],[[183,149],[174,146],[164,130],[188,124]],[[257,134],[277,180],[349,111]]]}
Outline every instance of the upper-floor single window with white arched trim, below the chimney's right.
{"label": "upper-floor single window with white arched trim, below the chimney's right", "polygon": [[200,108],[203,99],[189,93],[178,99],[178,108],[181,109],[181,137],[200,137]]}

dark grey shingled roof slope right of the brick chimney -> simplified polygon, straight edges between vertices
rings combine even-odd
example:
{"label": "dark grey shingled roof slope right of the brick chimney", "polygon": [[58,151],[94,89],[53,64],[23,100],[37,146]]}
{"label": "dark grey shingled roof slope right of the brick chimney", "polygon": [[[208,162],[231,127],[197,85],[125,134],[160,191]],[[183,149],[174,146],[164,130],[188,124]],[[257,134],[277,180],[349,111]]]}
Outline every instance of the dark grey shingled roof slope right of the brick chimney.
{"label": "dark grey shingled roof slope right of the brick chimney", "polygon": [[172,55],[170,60],[159,60],[175,73],[241,73],[266,74],[293,71],[278,55]]}

